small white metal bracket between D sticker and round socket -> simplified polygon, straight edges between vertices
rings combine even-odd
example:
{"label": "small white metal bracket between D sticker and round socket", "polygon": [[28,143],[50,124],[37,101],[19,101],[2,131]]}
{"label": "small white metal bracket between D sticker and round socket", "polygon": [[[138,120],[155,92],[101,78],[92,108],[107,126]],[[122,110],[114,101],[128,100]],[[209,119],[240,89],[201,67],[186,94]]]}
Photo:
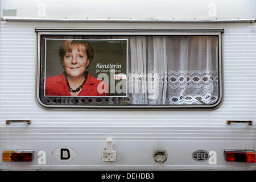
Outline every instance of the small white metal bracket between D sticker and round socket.
{"label": "small white metal bracket between D sticker and round socket", "polygon": [[106,148],[102,150],[102,161],[115,162],[117,160],[117,151],[113,150],[112,138],[106,139]]}

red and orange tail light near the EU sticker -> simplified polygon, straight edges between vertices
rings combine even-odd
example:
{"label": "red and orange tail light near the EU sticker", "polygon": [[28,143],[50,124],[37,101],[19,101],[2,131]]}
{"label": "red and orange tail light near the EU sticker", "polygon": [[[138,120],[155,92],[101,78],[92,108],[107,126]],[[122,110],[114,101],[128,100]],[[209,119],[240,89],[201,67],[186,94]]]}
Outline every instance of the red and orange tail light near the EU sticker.
{"label": "red and orange tail light near the EU sticker", "polygon": [[256,162],[255,151],[225,150],[224,155],[227,162]]}

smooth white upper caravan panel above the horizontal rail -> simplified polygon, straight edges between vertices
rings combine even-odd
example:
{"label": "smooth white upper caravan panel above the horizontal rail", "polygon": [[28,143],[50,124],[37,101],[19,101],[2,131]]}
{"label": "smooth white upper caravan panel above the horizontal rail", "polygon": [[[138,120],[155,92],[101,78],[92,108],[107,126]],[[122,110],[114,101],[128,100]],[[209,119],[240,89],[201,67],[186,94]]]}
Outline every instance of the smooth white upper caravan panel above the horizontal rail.
{"label": "smooth white upper caravan panel above the horizontal rail", "polygon": [[245,19],[255,18],[254,0],[2,0],[2,17],[50,19]]}

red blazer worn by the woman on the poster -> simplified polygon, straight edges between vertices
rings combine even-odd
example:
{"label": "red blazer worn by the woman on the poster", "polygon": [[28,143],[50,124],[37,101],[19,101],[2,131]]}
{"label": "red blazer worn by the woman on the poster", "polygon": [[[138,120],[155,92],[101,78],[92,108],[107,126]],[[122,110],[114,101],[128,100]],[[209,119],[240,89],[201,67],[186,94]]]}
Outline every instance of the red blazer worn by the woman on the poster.
{"label": "red blazer worn by the woman on the poster", "polygon": [[[103,82],[104,85],[108,85],[106,82],[94,78],[88,72],[87,80],[78,96],[109,96],[108,93],[98,93],[97,88],[100,82]],[[102,88],[104,89],[104,86],[102,86]],[[108,90],[108,88],[106,90]],[[64,72],[61,73],[61,75],[46,78],[46,96],[71,96]]]}

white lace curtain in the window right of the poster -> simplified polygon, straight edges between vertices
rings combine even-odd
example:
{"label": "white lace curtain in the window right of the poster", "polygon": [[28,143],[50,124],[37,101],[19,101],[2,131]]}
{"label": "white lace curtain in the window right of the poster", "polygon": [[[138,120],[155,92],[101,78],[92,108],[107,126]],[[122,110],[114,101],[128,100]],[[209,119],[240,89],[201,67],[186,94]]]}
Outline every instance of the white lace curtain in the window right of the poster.
{"label": "white lace curtain in the window right of the poster", "polygon": [[129,77],[134,83],[128,86],[129,104],[213,104],[217,64],[217,36],[131,36],[127,66],[131,75],[140,76]]}

